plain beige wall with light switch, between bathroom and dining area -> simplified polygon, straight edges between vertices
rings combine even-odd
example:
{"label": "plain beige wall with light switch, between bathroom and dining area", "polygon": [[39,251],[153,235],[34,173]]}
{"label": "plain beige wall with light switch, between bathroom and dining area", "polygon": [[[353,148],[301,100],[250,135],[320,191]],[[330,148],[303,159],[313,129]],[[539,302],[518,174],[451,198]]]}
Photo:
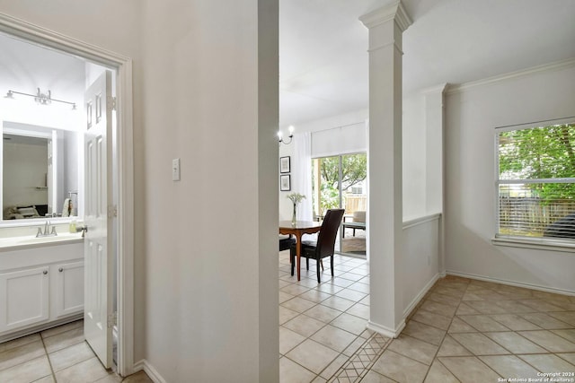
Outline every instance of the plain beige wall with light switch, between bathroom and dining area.
{"label": "plain beige wall with light switch, between bathroom and dining area", "polygon": [[278,15],[260,3],[0,0],[134,59],[135,358],[166,381],[278,379]]}

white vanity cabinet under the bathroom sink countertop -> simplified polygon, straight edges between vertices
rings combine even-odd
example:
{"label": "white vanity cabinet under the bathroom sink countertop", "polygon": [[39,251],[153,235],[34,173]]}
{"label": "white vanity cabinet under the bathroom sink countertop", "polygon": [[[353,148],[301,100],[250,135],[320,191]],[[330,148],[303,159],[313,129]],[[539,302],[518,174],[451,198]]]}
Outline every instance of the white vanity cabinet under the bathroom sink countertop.
{"label": "white vanity cabinet under the bathroom sink countertop", "polygon": [[0,342],[84,312],[84,243],[0,247]]}

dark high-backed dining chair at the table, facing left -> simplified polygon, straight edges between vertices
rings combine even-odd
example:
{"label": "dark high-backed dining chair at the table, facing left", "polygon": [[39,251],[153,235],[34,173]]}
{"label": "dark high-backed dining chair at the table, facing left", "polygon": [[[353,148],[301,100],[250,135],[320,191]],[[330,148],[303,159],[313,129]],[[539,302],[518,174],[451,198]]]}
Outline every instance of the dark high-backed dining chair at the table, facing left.
{"label": "dark high-backed dining chair at the table, facing left", "polygon": [[[340,228],[341,218],[344,209],[330,209],[325,213],[323,218],[322,229],[317,236],[317,241],[302,240],[301,257],[305,257],[305,268],[309,270],[309,258],[315,259],[317,270],[317,283],[322,283],[320,275],[320,265],[324,257],[330,257],[332,263],[333,276],[333,253],[335,248],[335,239],[338,229]],[[296,244],[289,247],[289,259],[291,261],[291,274],[294,274],[296,266]]]}

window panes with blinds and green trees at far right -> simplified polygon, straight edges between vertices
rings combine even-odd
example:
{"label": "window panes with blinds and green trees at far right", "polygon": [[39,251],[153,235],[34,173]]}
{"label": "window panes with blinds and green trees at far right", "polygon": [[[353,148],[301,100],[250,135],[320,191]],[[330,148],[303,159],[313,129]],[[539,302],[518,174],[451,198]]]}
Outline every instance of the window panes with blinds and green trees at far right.
{"label": "window panes with blinds and green trees at far right", "polygon": [[575,124],[496,136],[497,236],[575,239]]}

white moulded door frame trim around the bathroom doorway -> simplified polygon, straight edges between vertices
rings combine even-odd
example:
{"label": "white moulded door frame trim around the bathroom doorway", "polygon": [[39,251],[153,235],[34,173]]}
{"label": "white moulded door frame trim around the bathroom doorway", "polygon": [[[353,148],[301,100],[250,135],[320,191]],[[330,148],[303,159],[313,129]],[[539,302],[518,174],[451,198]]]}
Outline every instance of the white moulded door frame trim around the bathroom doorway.
{"label": "white moulded door frame trim around the bathroom doorway", "polygon": [[[109,218],[111,233],[111,261],[113,262],[113,304],[115,312],[103,319],[105,326],[115,326],[118,344],[117,371],[127,376],[134,371],[133,358],[133,148],[132,148],[132,99],[131,99],[131,60],[101,48],[95,48],[81,41],[67,38],[49,30],[40,29],[27,22],[0,14],[0,33],[3,37],[19,40],[40,49],[67,57],[75,57],[84,62],[86,79],[92,75],[89,68],[102,67],[111,70],[115,78],[111,83],[116,93],[114,98],[115,115],[111,129],[111,166],[106,178],[111,182],[113,192],[105,210]],[[46,64],[46,63],[44,63]],[[88,80],[86,80],[87,83]],[[61,85],[62,83],[60,83]],[[56,84],[53,86],[57,86]],[[85,83],[83,83],[85,87]],[[22,91],[28,93],[28,91]],[[39,89],[40,93],[40,89]],[[46,94],[42,92],[42,94]],[[49,94],[49,93],[48,93]],[[25,97],[25,96],[24,96]],[[57,99],[56,96],[53,99]],[[84,99],[84,97],[82,98]],[[83,105],[84,101],[80,101]],[[84,109],[84,108],[82,108]],[[82,113],[82,110],[80,110]],[[83,113],[83,117],[85,114]],[[81,123],[85,126],[84,123]],[[80,202],[81,204],[81,202]],[[86,281],[84,281],[85,287]]]}

